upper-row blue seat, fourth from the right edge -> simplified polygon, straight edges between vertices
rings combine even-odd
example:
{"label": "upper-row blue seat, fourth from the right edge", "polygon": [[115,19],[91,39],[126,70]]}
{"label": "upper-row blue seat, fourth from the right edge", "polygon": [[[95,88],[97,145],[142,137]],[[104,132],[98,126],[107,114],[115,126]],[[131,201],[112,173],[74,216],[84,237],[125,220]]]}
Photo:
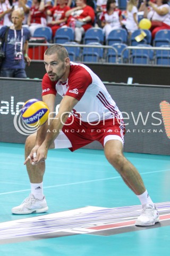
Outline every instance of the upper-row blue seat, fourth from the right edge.
{"label": "upper-row blue seat, fourth from the right edge", "polygon": [[104,42],[104,33],[102,28],[89,28],[84,34],[84,44]]}

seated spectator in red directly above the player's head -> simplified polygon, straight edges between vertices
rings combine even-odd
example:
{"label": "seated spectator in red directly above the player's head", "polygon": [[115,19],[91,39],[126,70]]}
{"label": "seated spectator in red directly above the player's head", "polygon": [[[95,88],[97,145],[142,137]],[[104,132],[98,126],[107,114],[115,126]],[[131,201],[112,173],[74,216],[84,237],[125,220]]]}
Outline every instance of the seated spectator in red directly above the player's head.
{"label": "seated spectator in red directly above the player's head", "polygon": [[70,10],[70,7],[66,6],[65,0],[58,0],[57,3],[57,6],[47,10],[47,15],[53,17],[53,20],[48,23],[48,26],[52,28],[53,37],[58,28],[66,25],[67,18],[65,17],[65,13]]}

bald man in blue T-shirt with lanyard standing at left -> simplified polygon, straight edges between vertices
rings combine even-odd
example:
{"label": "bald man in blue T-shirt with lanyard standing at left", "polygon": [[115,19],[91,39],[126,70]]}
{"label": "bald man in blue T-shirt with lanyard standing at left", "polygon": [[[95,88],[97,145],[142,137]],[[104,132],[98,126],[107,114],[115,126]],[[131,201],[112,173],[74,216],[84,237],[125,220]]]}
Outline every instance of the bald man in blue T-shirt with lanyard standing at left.
{"label": "bald man in blue T-shirt with lanyard standing at left", "polygon": [[30,65],[30,58],[28,57],[30,31],[22,27],[24,20],[23,10],[14,10],[11,20],[13,22],[11,27],[8,28],[4,26],[0,30],[1,39],[4,38],[5,33],[7,33],[7,42],[4,42],[3,45],[5,59],[2,61],[1,65],[1,76],[27,78],[24,61]]}

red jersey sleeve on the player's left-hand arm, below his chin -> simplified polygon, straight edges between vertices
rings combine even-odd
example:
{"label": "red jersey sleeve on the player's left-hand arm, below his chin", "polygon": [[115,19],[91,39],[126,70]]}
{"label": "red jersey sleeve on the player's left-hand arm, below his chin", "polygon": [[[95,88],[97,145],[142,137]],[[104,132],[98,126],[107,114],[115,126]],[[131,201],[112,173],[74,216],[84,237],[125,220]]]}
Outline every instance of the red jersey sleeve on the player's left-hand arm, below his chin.
{"label": "red jersey sleeve on the player's left-hand arm, below his chin", "polygon": [[47,95],[47,94],[54,94],[56,95],[57,91],[55,88],[56,82],[50,81],[47,73],[43,77],[42,81],[42,96]]}

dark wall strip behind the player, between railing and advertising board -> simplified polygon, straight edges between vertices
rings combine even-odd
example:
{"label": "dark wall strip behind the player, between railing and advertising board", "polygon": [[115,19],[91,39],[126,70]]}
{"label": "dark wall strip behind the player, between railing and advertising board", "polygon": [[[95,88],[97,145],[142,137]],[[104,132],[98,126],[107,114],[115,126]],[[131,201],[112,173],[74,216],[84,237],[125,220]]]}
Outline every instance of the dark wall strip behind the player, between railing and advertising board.
{"label": "dark wall strip behind the player, between railing and advertising board", "polygon": [[[168,66],[130,65],[130,64],[100,64],[87,63],[101,79],[101,81],[127,83],[128,77],[133,77],[133,83],[169,85]],[[36,72],[35,72],[36,70]],[[43,78],[45,67],[43,61],[32,61],[30,67],[26,68],[29,78]]]}

